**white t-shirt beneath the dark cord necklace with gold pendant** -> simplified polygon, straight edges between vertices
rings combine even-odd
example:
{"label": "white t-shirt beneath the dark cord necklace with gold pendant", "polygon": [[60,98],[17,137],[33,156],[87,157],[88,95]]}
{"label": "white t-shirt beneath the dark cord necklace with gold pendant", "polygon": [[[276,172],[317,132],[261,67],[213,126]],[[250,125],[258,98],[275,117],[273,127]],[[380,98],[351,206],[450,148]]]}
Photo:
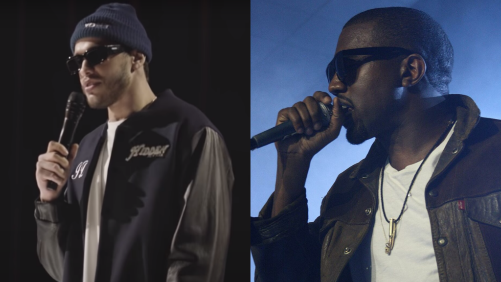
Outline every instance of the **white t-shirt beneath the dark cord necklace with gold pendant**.
{"label": "white t-shirt beneath the dark cord necklace with gold pendant", "polygon": [[[389,223],[381,209],[380,176],[379,204],[374,225],[350,260],[354,281],[439,281],[424,190],[454,127],[455,124],[418,173],[404,213],[397,223],[395,243],[389,255],[385,253]],[[410,183],[421,163],[422,161],[397,171],[386,161],[383,200],[388,220],[398,218]]]}

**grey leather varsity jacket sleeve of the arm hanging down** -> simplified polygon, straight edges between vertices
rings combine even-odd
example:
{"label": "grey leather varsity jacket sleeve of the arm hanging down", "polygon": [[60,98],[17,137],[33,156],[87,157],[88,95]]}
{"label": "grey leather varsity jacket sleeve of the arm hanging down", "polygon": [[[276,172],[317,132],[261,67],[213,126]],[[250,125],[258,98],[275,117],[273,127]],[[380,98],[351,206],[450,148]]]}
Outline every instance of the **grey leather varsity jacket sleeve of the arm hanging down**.
{"label": "grey leather varsity jacket sleeve of the arm hanging down", "polygon": [[166,280],[220,282],[231,221],[231,160],[222,137],[210,127],[194,135],[192,148],[199,151],[193,154],[198,158],[196,173],[184,193]]}

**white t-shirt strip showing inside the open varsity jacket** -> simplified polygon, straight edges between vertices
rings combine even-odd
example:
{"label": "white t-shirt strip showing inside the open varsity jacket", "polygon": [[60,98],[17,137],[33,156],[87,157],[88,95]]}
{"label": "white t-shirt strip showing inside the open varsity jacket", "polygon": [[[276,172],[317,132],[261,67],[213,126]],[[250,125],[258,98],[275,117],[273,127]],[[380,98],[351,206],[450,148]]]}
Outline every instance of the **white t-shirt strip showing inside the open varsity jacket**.
{"label": "white t-shirt strip showing inside the open varsity jacket", "polygon": [[96,170],[92,178],[89,191],[89,203],[87,205],[87,223],[85,228],[84,244],[84,278],[83,282],[94,282],[96,276],[97,251],[99,246],[99,226],[101,221],[101,206],[103,203],[108,166],[113,148],[113,140],[118,125],[125,119],[108,121],[106,144],[101,149]]}

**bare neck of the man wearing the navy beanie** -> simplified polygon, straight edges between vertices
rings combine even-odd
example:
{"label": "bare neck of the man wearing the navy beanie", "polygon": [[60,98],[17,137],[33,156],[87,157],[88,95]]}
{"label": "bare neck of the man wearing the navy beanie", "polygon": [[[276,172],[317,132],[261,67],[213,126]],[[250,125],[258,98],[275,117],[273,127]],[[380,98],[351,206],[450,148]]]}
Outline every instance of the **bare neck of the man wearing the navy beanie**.
{"label": "bare neck of the man wearing the navy beanie", "polygon": [[108,107],[108,120],[118,121],[125,119],[131,113],[140,111],[149,105],[155,97],[155,94],[146,81],[133,82],[127,91],[114,104]]}

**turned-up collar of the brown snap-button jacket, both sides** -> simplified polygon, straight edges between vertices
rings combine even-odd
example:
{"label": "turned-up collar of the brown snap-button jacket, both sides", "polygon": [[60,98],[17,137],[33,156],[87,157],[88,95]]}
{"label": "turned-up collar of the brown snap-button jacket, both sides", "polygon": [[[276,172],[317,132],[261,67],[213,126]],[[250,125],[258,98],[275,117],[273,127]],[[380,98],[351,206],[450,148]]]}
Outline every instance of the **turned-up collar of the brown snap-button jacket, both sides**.
{"label": "turned-up collar of the brown snap-button jacket, both sides", "polygon": [[[457,121],[453,137],[457,139],[457,142],[462,142],[469,136],[480,120],[480,110],[475,102],[466,95],[448,94],[444,97],[444,102],[455,108],[456,112]],[[387,157],[388,153],[376,138],[367,157],[355,167],[355,170],[350,174],[350,178],[367,178],[367,174],[377,172],[383,166]]]}

